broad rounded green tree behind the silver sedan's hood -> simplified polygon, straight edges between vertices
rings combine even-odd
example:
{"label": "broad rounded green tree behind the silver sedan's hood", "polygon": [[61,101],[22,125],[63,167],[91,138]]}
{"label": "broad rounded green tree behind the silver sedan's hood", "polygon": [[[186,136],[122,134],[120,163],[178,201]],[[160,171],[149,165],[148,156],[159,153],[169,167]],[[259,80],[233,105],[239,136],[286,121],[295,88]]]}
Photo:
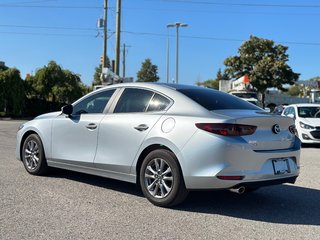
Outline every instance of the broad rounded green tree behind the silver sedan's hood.
{"label": "broad rounded green tree behind the silver sedan's hood", "polygon": [[71,103],[88,91],[79,75],[62,69],[54,61],[27,78],[26,89],[31,98],[59,103]]}

